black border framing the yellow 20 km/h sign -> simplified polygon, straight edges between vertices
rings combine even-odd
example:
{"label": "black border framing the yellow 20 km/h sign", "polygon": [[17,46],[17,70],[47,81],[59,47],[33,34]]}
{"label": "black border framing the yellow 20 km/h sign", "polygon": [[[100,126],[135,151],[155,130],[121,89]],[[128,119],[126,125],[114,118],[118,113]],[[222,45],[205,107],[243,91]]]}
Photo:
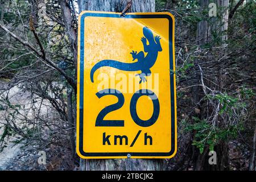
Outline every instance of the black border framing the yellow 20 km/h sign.
{"label": "black border framing the yellow 20 km/h sign", "polygon": [[[174,156],[176,152],[176,98],[175,98],[175,91],[174,88],[176,88],[175,84],[175,73],[171,73],[171,71],[174,71],[174,65],[173,65],[173,52],[174,52],[174,42],[173,42],[173,27],[174,27],[174,20],[172,19],[170,13],[164,13],[164,14],[126,14],[125,16],[121,16],[117,13],[99,13],[95,12],[92,13],[90,11],[83,11],[79,16],[80,19],[80,68],[84,68],[84,19],[88,16],[97,16],[97,17],[108,17],[108,18],[166,18],[169,20],[169,52],[170,52],[170,86],[171,86],[171,151],[170,152],[85,152],[82,148],[83,145],[83,132],[84,132],[84,96],[81,93],[84,93],[84,69],[80,70],[80,88],[78,88],[78,92],[80,93],[79,96],[79,102],[77,103],[77,106],[79,105],[79,111],[77,111],[77,114],[79,114],[79,137],[77,139],[78,147],[77,147],[77,154],[80,154],[81,158],[92,158],[92,157],[113,157],[118,156],[119,158],[127,158],[127,155],[130,155],[131,158],[139,158],[140,156],[147,156],[147,157],[156,157],[157,156]],[[81,156],[82,155],[82,156]]]}

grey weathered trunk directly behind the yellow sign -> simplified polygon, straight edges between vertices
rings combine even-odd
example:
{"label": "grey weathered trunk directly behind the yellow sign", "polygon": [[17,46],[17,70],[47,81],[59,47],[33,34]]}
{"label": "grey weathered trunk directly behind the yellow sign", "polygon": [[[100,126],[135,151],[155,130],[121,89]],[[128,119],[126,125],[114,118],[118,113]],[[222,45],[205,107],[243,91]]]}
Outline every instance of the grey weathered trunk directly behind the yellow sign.
{"label": "grey weathered trunk directly behind the yellow sign", "polygon": [[[122,12],[130,0],[80,0],[79,11]],[[155,0],[133,0],[127,12],[154,12]],[[164,159],[80,159],[80,170],[164,170]]]}

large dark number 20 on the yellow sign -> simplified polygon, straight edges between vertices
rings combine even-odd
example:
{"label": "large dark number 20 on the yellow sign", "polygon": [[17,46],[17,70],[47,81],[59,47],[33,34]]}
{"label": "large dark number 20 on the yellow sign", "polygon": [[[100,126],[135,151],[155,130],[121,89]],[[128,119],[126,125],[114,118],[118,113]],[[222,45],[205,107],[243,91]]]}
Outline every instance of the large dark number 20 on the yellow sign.
{"label": "large dark number 20 on the yellow sign", "polygon": [[[151,92],[151,93],[150,93]],[[101,98],[103,96],[107,95],[113,95],[118,98],[118,102],[109,106],[106,106],[104,109],[100,111],[96,118],[96,125],[95,126],[125,126],[125,121],[124,120],[104,120],[104,117],[114,111],[120,109],[123,104],[125,103],[125,97],[123,97],[123,94],[119,92],[118,90],[115,89],[104,89],[101,90],[100,92],[96,93],[96,96],[98,98]],[[138,102],[139,97],[141,96],[148,96],[151,98],[151,101],[153,102],[154,110],[153,114],[150,119],[148,120],[142,120],[139,118],[137,114],[137,109],[136,105]],[[146,107],[145,107],[146,108]],[[159,117],[159,111],[160,111],[160,106],[159,106],[159,100],[158,97],[156,97],[156,94],[152,92],[151,90],[147,89],[141,89],[138,90],[133,94],[133,97],[131,97],[131,102],[130,102],[130,114],[131,118],[133,118],[133,121],[137,123],[137,125],[142,126],[142,127],[148,127],[151,125],[154,125],[156,120]]]}

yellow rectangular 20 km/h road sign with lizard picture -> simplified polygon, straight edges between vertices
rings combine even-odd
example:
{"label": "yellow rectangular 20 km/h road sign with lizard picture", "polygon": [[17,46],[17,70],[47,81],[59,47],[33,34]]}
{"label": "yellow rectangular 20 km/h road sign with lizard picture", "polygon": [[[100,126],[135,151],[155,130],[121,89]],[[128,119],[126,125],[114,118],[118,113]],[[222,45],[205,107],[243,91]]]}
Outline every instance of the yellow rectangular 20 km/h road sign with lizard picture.
{"label": "yellow rectangular 20 km/h road sign with lizard picture", "polygon": [[79,15],[77,154],[85,159],[176,153],[174,16]]}

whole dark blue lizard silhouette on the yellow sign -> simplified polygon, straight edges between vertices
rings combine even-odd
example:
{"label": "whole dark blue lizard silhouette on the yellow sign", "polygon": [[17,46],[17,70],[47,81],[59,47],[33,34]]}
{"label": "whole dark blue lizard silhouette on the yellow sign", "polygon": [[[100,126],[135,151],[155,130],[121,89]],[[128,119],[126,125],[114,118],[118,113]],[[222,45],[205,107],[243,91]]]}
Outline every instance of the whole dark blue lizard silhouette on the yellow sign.
{"label": "whole dark blue lizard silhouette on the yellow sign", "polygon": [[143,35],[144,36],[141,38],[141,41],[143,43],[144,52],[147,52],[146,56],[144,56],[143,51],[139,53],[137,53],[137,51],[132,51],[130,53],[133,57],[133,61],[136,59],[138,60],[135,63],[123,63],[115,60],[102,60],[96,63],[90,71],[90,80],[94,82],[93,75],[97,69],[101,67],[112,67],[122,71],[141,71],[142,73],[136,75],[141,78],[139,83],[142,81],[147,81],[145,76],[151,75],[150,68],[155,64],[158,57],[158,52],[162,51],[162,47],[160,44],[160,36],[155,36],[154,38],[153,32],[148,27],[143,27]]}

